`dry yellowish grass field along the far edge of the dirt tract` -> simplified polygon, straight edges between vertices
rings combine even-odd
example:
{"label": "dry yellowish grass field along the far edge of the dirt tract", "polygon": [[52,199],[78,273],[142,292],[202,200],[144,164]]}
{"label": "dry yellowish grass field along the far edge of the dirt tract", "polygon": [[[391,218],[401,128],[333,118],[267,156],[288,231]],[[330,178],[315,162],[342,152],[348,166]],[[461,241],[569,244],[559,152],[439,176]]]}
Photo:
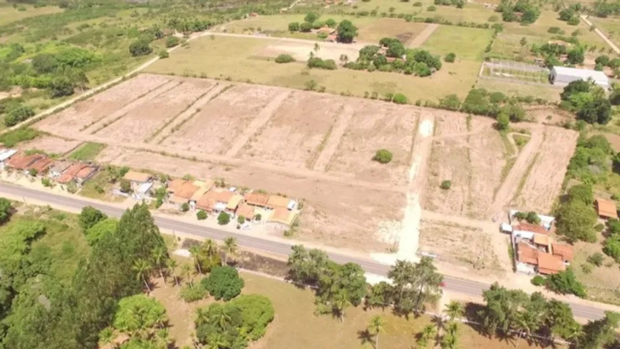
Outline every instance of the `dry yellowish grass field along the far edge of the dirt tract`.
{"label": "dry yellowish grass field along the far edge of the dirt tract", "polygon": [[[480,63],[460,61],[445,64],[431,77],[419,78],[405,74],[375,71],[353,71],[339,68],[335,71],[306,69],[301,63],[276,64],[274,61],[252,57],[271,40],[252,38],[213,37],[192,41],[190,47],[175,51],[169,59],[157,61],[147,71],[157,74],[208,76],[217,79],[249,81],[256,84],[304,88],[306,81],[314,80],[331,93],[351,93],[364,96],[376,91],[404,93],[411,101],[437,101],[450,93],[464,97],[475,82]],[[441,48],[443,53],[448,46]],[[321,49],[321,52],[326,50]],[[471,54],[473,56],[473,54]],[[448,84],[449,81],[449,84]]]}

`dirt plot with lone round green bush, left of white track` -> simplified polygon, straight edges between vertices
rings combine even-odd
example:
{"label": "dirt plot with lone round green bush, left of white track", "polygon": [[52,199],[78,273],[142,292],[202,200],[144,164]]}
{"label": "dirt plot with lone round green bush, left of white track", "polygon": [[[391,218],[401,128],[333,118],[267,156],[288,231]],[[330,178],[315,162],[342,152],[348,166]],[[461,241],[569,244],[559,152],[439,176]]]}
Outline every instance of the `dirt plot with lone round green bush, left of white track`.
{"label": "dirt plot with lone round green bush, left of white track", "polygon": [[[327,169],[363,181],[402,185],[408,178],[418,109],[360,101]],[[390,163],[371,161],[376,151],[393,153]]]}

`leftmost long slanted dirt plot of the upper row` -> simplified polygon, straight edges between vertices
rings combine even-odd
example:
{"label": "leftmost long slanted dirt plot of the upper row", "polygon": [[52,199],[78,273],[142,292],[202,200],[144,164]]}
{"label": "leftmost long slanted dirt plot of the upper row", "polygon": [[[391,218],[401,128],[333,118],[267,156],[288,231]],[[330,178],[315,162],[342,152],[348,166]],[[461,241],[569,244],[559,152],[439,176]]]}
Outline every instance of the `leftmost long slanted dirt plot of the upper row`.
{"label": "leftmost long slanted dirt plot of the upper row", "polygon": [[84,127],[118,111],[136,98],[159,88],[170,80],[169,76],[141,74],[43,119],[37,123],[37,127],[44,131],[63,131],[71,135],[72,132],[81,131]]}

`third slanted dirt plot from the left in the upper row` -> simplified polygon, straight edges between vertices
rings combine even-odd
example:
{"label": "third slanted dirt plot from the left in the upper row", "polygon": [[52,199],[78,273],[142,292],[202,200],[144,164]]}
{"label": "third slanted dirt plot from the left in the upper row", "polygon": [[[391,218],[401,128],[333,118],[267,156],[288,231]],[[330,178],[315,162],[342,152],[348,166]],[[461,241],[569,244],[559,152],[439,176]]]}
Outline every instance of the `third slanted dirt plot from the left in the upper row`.
{"label": "third slanted dirt plot from the left in the upper row", "polygon": [[227,89],[162,145],[187,151],[224,153],[254,118],[284,89],[240,84]]}

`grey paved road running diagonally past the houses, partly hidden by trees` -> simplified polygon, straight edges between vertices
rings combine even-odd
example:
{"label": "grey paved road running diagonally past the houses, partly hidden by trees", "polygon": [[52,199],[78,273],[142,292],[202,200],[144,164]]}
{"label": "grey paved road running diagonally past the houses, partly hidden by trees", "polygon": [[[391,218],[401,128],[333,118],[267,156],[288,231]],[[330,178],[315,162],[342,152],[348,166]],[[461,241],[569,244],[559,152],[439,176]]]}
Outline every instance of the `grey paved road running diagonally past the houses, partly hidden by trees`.
{"label": "grey paved road running diagonally past the houses, partly hidden by trees", "polygon": [[[61,196],[54,193],[46,193],[43,191],[36,191],[31,188],[11,185],[9,183],[0,183],[0,195],[9,194],[10,196],[17,196],[24,198],[26,202],[28,200],[35,200],[46,202],[51,206],[63,206],[66,208],[75,208],[77,210],[84,206],[93,206],[103,211],[111,217],[120,217],[123,214],[123,209],[115,206],[109,206],[100,203],[92,203],[90,201],[83,201],[76,197]],[[267,241],[262,238],[255,238],[239,233],[231,233],[229,231],[220,231],[215,228],[207,228],[203,226],[196,226],[190,223],[184,223],[175,221],[169,218],[154,217],[155,223],[162,229],[170,231],[177,231],[179,233],[187,233],[195,236],[202,236],[204,238],[213,238],[218,241],[223,241],[229,236],[237,238],[237,243],[242,248],[253,248],[259,251],[272,253],[279,256],[288,256],[291,251],[291,244],[281,243],[277,241]],[[339,253],[329,253],[329,257],[339,263],[353,262],[358,263],[368,273],[376,275],[386,275],[388,273],[389,266],[375,261],[355,258],[346,256]],[[465,295],[480,296],[483,290],[489,287],[486,283],[480,283],[477,281],[466,280],[463,278],[455,278],[450,275],[445,275],[445,288],[449,291],[463,293]],[[586,319],[596,319],[603,317],[604,313],[601,308],[597,308],[591,305],[583,305],[579,303],[569,302],[573,309],[575,316]]]}

